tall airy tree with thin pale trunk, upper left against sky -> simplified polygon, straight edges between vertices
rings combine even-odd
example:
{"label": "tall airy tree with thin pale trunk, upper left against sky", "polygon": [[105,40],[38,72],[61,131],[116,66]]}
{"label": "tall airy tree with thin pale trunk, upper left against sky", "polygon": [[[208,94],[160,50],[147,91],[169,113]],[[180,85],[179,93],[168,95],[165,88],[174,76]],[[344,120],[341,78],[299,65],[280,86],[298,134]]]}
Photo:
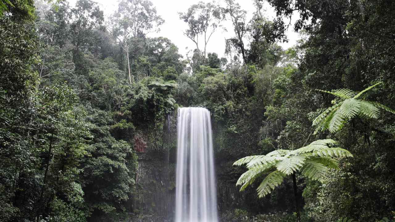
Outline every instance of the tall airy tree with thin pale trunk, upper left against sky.
{"label": "tall airy tree with thin pale trunk, upper left against sky", "polygon": [[[133,44],[137,38],[144,38],[149,32],[159,32],[159,26],[164,23],[164,20],[156,14],[156,8],[149,0],[121,0],[110,23],[111,30],[109,31],[117,38],[126,53],[129,82],[132,84],[129,61],[131,40]],[[132,58],[133,64],[134,57]]]}

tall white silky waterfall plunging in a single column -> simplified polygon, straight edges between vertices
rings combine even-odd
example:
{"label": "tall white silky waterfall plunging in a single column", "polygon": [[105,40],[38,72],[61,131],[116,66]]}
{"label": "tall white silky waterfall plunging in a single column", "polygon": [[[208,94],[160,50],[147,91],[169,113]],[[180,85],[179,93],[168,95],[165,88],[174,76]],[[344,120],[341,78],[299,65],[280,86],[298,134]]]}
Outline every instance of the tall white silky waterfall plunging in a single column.
{"label": "tall white silky waterfall plunging in a single column", "polygon": [[210,112],[178,109],[175,222],[217,222]]}

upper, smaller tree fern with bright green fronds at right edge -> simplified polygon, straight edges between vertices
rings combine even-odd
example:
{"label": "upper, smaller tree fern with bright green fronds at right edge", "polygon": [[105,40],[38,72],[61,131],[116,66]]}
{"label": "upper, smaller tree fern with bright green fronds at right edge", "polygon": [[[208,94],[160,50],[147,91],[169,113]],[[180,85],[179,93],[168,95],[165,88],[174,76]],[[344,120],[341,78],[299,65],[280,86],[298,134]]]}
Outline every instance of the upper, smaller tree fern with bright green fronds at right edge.
{"label": "upper, smaller tree fern with bright green fronds at right edge", "polygon": [[325,90],[318,90],[320,92],[325,92],[337,96],[340,100],[335,102],[332,107],[327,108],[318,117],[313,120],[313,126],[316,127],[316,134],[318,131],[324,131],[328,129],[330,132],[339,131],[344,124],[354,118],[369,118],[378,119],[380,115],[380,109],[391,112],[395,114],[395,111],[383,104],[377,102],[370,102],[365,100],[360,100],[359,97],[373,87],[381,84],[382,82],[376,83],[368,88],[365,88],[358,94],[350,89],[337,89],[331,92]]}

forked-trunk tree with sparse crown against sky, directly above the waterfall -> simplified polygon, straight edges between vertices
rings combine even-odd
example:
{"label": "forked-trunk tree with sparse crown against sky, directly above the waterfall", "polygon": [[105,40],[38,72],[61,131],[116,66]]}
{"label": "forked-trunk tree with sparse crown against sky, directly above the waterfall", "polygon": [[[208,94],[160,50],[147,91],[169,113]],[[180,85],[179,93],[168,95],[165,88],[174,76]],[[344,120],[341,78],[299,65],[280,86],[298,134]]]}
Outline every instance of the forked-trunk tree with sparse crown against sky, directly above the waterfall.
{"label": "forked-trunk tree with sparse crown against sky, directly above the waterfall", "polygon": [[[215,32],[220,27],[222,15],[220,7],[214,2],[198,2],[188,8],[186,13],[179,12],[180,19],[188,24],[188,29],[184,35],[196,44],[196,49],[201,53],[203,60],[206,58],[207,44]],[[199,49],[199,36],[204,38],[204,51]]]}

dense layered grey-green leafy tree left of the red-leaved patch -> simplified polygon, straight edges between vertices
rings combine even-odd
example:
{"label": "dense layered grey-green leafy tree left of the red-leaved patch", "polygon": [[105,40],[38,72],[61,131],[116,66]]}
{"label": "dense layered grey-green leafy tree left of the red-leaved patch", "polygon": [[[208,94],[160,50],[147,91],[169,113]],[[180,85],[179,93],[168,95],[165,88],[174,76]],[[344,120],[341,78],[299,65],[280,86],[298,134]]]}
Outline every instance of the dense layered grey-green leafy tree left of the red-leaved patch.
{"label": "dense layered grey-green leafy tree left of the red-leaved patch", "polygon": [[137,155],[129,143],[111,136],[109,124],[113,120],[109,113],[95,109],[91,112],[87,118],[94,139],[83,161],[84,200],[92,212],[91,219],[111,221],[126,214],[135,184]]}

